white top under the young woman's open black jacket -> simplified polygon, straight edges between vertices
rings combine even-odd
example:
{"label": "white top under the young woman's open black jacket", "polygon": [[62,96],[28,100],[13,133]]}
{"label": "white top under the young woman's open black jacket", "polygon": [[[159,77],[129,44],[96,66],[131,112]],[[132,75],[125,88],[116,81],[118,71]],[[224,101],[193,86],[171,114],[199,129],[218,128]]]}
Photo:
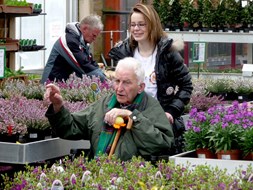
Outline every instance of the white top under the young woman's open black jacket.
{"label": "white top under the young woman's open black jacket", "polygon": [[143,57],[139,53],[138,48],[134,50],[134,58],[142,63],[145,70],[145,91],[154,98],[157,98],[157,84],[155,75],[157,47],[149,57]]}

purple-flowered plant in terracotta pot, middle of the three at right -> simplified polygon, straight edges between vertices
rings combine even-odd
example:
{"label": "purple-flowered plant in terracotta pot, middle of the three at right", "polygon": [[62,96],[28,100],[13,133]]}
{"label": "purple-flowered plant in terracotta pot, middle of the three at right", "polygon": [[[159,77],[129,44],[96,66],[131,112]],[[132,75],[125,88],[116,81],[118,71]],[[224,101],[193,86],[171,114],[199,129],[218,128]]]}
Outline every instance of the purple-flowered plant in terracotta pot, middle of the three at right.
{"label": "purple-flowered plant in terracotta pot, middle of the three at right", "polygon": [[[247,110],[247,111],[245,111]],[[247,103],[234,101],[231,106],[216,106],[209,110],[212,117],[208,138],[214,144],[220,159],[241,158],[241,136],[245,128],[251,127],[252,108]]]}

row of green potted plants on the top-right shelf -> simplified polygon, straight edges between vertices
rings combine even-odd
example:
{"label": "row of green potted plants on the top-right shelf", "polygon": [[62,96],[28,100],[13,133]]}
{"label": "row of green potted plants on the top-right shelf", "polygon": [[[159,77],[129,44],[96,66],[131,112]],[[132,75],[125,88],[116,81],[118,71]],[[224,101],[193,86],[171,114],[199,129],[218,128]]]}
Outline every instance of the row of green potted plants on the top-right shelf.
{"label": "row of green potted plants on the top-right shelf", "polygon": [[253,25],[252,1],[243,6],[237,0],[154,0],[154,7],[169,30],[179,26],[185,30],[248,32]]}

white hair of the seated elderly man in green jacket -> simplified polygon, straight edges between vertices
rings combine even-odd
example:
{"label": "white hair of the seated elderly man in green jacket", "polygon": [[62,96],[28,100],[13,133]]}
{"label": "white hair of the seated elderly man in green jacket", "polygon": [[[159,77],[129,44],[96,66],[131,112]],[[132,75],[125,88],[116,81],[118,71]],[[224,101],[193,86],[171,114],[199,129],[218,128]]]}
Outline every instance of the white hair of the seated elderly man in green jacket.
{"label": "white hair of the seated elderly man in green jacket", "polygon": [[142,67],[141,62],[139,62],[137,59],[133,57],[125,57],[124,59],[119,60],[116,66],[115,72],[117,72],[117,70],[120,68],[133,70],[137,76],[138,84],[141,84],[144,82],[145,71]]}

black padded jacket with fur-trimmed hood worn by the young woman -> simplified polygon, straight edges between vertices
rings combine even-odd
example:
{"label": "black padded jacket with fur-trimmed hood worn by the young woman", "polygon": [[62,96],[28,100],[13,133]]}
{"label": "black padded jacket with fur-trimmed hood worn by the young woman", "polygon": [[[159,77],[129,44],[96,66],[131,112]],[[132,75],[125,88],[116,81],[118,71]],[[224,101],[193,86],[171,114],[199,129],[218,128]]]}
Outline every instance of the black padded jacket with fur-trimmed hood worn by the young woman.
{"label": "black padded jacket with fur-trimmed hood worn by the young woman", "polygon": [[[173,39],[168,37],[161,38],[157,43],[157,99],[164,111],[170,113],[173,118],[182,115],[193,90],[191,75],[179,53],[182,44],[182,41],[173,42]],[[133,52],[129,39],[125,39],[110,50],[109,57],[117,63],[124,57],[133,57]]]}

